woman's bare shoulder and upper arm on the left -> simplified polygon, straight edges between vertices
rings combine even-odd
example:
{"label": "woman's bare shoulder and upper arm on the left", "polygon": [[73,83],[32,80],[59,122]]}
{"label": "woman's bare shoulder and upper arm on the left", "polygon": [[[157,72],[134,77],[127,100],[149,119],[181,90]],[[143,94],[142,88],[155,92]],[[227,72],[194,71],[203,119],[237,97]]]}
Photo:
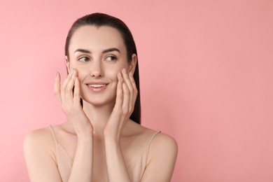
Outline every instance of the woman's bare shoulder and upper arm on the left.
{"label": "woman's bare shoulder and upper arm on the left", "polygon": [[49,127],[27,134],[24,155],[31,181],[62,181],[56,165],[55,141]]}

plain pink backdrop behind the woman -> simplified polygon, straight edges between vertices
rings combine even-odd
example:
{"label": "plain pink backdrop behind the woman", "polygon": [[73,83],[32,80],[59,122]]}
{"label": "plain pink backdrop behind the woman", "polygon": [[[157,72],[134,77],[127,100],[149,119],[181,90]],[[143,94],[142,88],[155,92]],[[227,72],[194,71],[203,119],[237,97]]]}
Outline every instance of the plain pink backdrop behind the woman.
{"label": "plain pink backdrop behind the woman", "polygon": [[0,1],[0,181],[29,181],[25,135],[64,122],[52,94],[76,18],[124,20],[143,125],[172,135],[172,181],[273,181],[273,1]]}

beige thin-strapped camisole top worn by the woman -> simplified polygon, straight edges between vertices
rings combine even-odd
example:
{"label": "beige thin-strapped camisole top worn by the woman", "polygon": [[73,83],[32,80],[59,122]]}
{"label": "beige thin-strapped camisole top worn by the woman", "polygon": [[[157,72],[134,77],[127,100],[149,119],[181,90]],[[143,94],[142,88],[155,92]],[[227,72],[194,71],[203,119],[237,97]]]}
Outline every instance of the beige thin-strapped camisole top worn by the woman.
{"label": "beige thin-strapped camisole top worn by the woman", "polygon": [[[69,157],[68,153],[64,150],[64,148],[62,148],[62,146],[59,145],[53,127],[51,125],[49,125],[49,127],[55,141],[56,162],[59,170],[59,175],[61,176],[62,181],[66,182],[68,181],[69,175],[71,173],[73,160]],[[136,155],[136,157],[134,157],[131,160],[131,162],[127,165],[127,170],[132,181],[134,182],[141,181],[141,178],[144,174],[147,165],[146,163],[151,141],[153,141],[153,138],[158,133],[160,133],[160,131],[157,131],[151,135],[150,139],[147,140],[147,143],[144,146],[143,150],[141,150],[141,152],[138,155]]]}

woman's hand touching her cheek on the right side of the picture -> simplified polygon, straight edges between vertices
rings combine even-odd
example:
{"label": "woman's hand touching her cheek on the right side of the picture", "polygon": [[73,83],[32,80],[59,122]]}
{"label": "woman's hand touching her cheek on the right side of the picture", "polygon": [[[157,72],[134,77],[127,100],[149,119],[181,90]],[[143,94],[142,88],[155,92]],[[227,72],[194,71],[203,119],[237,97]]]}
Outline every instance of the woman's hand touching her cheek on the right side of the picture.
{"label": "woman's hand touching her cheek on the right side of the picture", "polygon": [[119,142],[123,127],[134,111],[137,93],[137,85],[134,82],[133,73],[127,73],[126,69],[119,71],[116,104],[108,123],[104,127],[105,139],[113,139],[113,141]]}

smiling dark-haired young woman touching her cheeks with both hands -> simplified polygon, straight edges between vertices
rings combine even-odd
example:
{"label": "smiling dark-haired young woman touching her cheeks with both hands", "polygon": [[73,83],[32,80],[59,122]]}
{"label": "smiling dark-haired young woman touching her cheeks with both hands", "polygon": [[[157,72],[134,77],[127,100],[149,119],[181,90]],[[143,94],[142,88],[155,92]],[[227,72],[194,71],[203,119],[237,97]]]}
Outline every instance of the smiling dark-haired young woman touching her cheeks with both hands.
{"label": "smiling dark-haired young woman touching her cheeks with both hands", "polygon": [[140,125],[137,48],[110,15],[78,19],[65,45],[68,76],[54,92],[67,122],[24,143],[31,181],[170,181],[176,141]]}

